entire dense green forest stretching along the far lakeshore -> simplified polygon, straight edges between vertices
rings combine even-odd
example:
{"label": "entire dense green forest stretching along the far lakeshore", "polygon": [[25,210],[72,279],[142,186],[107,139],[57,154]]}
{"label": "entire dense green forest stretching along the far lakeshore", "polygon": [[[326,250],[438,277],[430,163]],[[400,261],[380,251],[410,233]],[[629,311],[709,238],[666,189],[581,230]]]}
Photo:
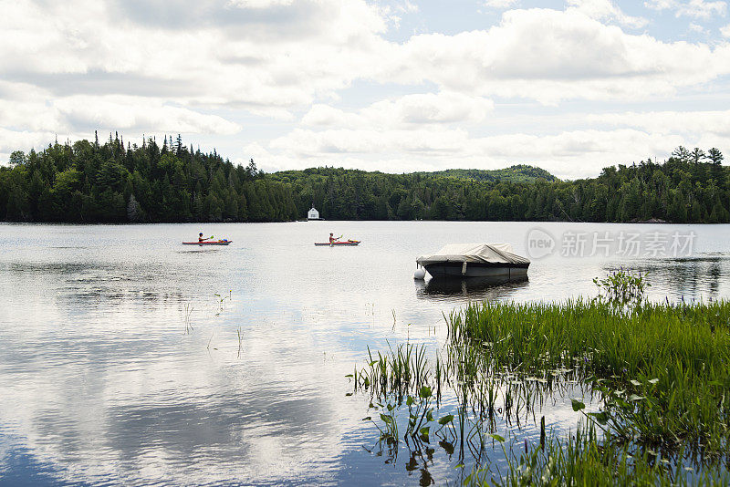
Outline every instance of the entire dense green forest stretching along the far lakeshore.
{"label": "entire dense green forest stretching along the far lakeshore", "polygon": [[286,222],[310,205],[328,220],[673,223],[730,221],[730,169],[711,149],[610,166],[558,181],[531,166],[387,174],[337,168],[266,174],[176,140],[139,147],[119,136],[15,151],[0,168],[0,220],[12,222]]}

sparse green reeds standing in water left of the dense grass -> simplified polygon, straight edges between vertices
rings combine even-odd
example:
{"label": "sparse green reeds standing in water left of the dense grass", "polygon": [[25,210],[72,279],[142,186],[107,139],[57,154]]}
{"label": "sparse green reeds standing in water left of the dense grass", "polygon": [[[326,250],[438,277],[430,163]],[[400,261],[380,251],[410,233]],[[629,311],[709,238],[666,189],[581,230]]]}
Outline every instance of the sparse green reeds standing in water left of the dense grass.
{"label": "sparse green reeds standing in water left of the dense grass", "polygon": [[[467,348],[465,345],[462,351]],[[447,348],[444,357],[429,360],[426,350],[425,345],[405,343],[385,352],[369,352],[370,362],[347,376],[353,379],[355,390],[370,391],[371,412],[363,420],[380,431],[378,454],[387,455],[389,461],[395,461],[402,440],[412,453],[429,451],[431,445],[438,444],[449,456],[456,454],[462,465],[467,454],[479,462],[487,443],[502,438],[496,434],[496,416],[519,426],[530,414],[535,419],[537,401],[542,403],[554,389],[566,387],[565,381],[555,377],[549,381],[517,378],[494,371],[488,378],[474,380],[484,372],[484,361],[471,365],[464,365],[464,361],[476,360],[480,354],[459,355]],[[445,387],[456,394],[455,410],[441,410],[441,389]],[[396,414],[399,410],[401,428]]]}

